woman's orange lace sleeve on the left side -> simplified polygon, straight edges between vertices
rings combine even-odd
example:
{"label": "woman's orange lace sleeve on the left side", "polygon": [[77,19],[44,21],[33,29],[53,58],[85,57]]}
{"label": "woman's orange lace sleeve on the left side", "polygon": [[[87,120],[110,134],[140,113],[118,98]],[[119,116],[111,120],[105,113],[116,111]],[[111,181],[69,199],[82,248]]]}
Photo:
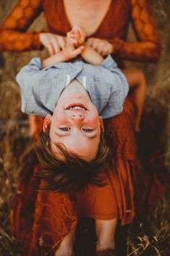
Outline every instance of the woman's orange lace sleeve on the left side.
{"label": "woman's orange lace sleeve on the left side", "polygon": [[24,33],[42,12],[42,0],[20,0],[0,25],[0,51],[30,51],[41,47],[39,33]]}

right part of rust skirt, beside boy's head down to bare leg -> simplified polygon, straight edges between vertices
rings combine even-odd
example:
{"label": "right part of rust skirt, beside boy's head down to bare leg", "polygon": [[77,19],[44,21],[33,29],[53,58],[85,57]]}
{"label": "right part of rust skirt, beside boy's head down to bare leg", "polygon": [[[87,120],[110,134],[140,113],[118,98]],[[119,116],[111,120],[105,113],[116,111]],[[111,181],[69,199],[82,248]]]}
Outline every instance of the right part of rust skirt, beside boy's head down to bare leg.
{"label": "right part of rust skirt, beside boy's head down to bare leg", "polygon": [[[135,174],[135,110],[129,99],[122,114],[104,122],[106,140],[112,150],[112,163],[104,175],[107,186],[91,187],[76,195],[80,216],[110,219],[120,218],[122,225],[134,217],[134,189],[132,174]],[[133,173],[132,173],[133,172]]]}

